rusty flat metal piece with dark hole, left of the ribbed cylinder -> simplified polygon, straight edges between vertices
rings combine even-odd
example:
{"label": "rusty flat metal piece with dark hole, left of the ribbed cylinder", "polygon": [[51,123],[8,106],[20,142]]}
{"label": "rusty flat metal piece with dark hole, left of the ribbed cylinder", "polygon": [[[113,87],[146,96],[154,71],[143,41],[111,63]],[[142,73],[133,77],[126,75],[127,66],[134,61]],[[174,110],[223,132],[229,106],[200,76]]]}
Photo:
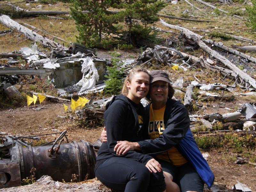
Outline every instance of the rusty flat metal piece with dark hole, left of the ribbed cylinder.
{"label": "rusty flat metal piece with dark hole, left of the ribbed cylinder", "polygon": [[19,160],[0,161],[0,189],[17,187],[21,184]]}

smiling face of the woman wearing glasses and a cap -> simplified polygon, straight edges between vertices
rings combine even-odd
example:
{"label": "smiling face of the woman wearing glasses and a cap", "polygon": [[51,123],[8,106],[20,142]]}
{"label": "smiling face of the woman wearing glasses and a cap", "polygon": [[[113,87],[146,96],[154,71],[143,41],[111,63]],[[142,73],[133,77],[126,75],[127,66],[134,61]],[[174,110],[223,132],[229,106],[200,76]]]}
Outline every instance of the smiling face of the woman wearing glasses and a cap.
{"label": "smiling face of the woman wearing glasses and a cap", "polygon": [[152,100],[153,109],[164,107],[168,98],[168,83],[161,80],[151,83],[149,94]]}

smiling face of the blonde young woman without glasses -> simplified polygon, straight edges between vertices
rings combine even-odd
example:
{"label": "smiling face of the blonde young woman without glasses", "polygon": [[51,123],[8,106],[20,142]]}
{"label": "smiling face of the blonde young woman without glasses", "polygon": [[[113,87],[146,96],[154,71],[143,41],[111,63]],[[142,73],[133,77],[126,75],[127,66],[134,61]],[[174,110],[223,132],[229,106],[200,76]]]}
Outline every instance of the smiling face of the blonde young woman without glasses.
{"label": "smiling face of the blonde young woman without glasses", "polygon": [[128,87],[127,97],[133,102],[139,103],[148,94],[149,75],[145,72],[138,72],[134,74],[131,82],[126,82],[126,86]]}

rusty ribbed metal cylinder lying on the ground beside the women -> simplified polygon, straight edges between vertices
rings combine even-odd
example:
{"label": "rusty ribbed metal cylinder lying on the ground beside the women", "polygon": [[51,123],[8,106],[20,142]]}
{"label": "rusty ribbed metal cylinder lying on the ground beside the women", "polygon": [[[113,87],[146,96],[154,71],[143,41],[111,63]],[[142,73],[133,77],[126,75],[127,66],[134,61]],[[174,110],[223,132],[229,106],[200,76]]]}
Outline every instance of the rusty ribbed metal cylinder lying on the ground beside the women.
{"label": "rusty ribbed metal cylinder lying on the ground beside the women", "polygon": [[79,182],[95,177],[96,154],[91,143],[84,140],[72,141],[61,144],[58,152],[50,152],[51,147],[28,146],[12,149],[12,160],[20,161],[21,180],[31,175],[32,167],[36,168],[36,179],[49,175],[53,180],[70,182],[72,174],[76,174],[78,176],[75,176],[75,180]]}

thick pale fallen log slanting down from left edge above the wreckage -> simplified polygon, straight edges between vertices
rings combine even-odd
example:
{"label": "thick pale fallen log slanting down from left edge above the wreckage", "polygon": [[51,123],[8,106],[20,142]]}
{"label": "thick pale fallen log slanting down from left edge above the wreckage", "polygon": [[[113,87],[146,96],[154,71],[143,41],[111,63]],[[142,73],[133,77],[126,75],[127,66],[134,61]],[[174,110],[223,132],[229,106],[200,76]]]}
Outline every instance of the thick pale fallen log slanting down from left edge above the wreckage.
{"label": "thick pale fallen log slanting down from left edge above the wreckage", "polygon": [[31,31],[30,29],[20,25],[19,23],[17,23],[16,21],[12,20],[7,15],[1,15],[0,16],[0,22],[3,23],[5,26],[11,28],[11,29],[15,29],[15,30],[23,33],[24,36],[26,36],[28,39],[30,39],[32,41],[36,41],[38,43],[41,43],[45,47],[68,49],[66,47],[63,47],[61,44],[56,43],[56,42],[54,42],[54,41],[52,41],[50,39],[44,38],[43,36],[38,35],[37,33]]}

